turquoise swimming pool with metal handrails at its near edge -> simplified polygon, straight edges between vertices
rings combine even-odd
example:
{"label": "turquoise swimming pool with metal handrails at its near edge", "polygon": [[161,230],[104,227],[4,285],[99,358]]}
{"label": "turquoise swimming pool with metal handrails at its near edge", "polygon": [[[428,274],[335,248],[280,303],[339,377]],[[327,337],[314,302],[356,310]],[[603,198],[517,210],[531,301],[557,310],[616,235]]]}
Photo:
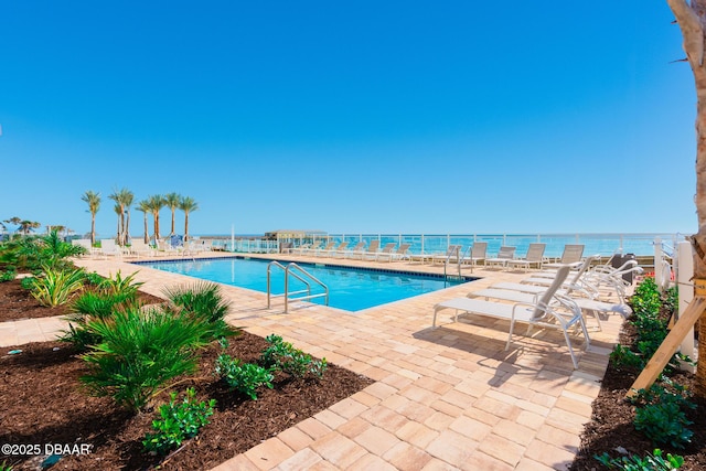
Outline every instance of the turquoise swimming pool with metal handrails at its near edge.
{"label": "turquoise swimming pool with metal handrails at its near edge", "polygon": [[[138,265],[170,271],[224,285],[267,292],[267,265],[271,260],[256,258],[212,258],[174,261],[142,261]],[[282,265],[287,265],[282,261]],[[406,271],[350,268],[340,265],[298,264],[329,287],[329,306],[346,311],[360,311],[386,304],[426,292],[472,281],[477,278],[447,278],[435,275],[417,275]],[[271,270],[272,293],[285,291],[281,269]],[[290,278],[289,290],[306,288],[301,281]],[[323,292],[312,285],[312,295]],[[284,302],[284,301],[276,301]],[[323,298],[311,302],[323,303]]]}

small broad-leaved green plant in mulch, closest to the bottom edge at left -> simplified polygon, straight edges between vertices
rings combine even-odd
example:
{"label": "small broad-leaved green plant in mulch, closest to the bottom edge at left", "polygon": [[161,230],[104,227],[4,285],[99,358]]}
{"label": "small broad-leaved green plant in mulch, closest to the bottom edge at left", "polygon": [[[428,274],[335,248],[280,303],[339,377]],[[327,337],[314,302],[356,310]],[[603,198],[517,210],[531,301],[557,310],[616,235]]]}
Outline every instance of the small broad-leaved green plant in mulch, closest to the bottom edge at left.
{"label": "small broad-leaved green plant in mulch, closest to the bottom edge at left", "polygon": [[176,403],[176,393],[170,394],[169,404],[163,404],[159,408],[161,420],[152,421],[152,428],[157,432],[147,433],[142,440],[147,451],[165,454],[185,439],[195,437],[199,430],[208,424],[208,417],[213,415],[216,400],[196,403],[195,397],[196,393],[193,388],[186,389],[181,403]]}

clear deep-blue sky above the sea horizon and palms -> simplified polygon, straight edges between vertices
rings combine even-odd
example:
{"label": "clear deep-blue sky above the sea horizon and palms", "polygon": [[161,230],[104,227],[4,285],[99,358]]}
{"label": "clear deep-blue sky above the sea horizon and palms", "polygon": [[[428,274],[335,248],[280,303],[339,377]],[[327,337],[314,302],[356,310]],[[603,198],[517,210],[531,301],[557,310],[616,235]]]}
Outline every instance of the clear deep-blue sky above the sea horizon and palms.
{"label": "clear deep-blue sky above the sea horizon and palms", "polygon": [[643,0],[3,2],[0,220],[83,234],[92,190],[108,237],[127,188],[195,199],[192,234],[694,233],[673,19]]}

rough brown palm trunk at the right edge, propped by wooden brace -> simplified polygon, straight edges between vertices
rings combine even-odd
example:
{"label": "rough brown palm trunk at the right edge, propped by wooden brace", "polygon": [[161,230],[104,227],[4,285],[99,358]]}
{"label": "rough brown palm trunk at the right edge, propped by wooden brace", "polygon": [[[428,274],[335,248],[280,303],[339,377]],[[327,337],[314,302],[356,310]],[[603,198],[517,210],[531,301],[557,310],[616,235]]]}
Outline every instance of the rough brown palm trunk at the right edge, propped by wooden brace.
{"label": "rough brown palm trunk at the right edge, propped by wooden brace", "polygon": [[[694,277],[706,281],[706,0],[667,0],[682,30],[683,47],[696,85],[696,214],[698,232],[692,236]],[[696,395],[706,398],[706,318],[699,320]]]}

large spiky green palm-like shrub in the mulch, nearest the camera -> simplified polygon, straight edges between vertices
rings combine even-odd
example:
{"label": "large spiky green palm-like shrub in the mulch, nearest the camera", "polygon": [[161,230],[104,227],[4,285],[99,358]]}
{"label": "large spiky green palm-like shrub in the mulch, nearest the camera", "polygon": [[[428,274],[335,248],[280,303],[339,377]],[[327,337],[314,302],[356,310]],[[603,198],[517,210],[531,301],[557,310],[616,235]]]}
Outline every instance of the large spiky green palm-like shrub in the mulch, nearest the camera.
{"label": "large spiky green palm-like shrub in the mulch, nearest the camera", "polygon": [[81,381],[97,396],[140,410],[168,382],[196,368],[195,350],[207,325],[185,315],[131,308],[86,323],[101,342],[82,355],[90,373]]}

